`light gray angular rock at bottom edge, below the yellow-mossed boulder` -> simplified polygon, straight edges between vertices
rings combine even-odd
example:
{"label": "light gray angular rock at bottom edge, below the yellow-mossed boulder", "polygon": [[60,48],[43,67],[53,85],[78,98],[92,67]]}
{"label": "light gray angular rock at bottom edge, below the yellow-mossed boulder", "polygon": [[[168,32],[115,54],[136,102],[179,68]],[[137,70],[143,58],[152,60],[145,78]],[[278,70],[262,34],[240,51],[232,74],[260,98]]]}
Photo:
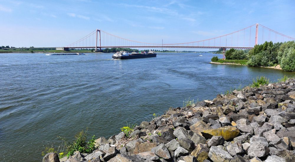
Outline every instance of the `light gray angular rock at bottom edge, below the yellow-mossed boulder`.
{"label": "light gray angular rock at bottom edge, below the yellow-mossed boulder", "polygon": [[232,156],[227,151],[224,151],[222,148],[219,148],[217,146],[212,146],[210,148],[210,151],[208,153],[209,158],[214,161],[223,161],[223,162],[229,162],[232,159]]}

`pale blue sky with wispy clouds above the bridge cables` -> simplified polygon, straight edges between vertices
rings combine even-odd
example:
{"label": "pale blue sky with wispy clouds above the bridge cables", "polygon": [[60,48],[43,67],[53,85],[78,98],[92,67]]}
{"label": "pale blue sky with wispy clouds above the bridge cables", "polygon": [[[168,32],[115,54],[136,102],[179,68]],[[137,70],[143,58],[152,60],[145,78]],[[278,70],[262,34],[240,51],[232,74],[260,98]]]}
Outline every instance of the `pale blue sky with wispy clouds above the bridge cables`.
{"label": "pale blue sky with wispy clouds above the bridge cables", "polygon": [[65,47],[95,29],[182,43],[259,23],[295,38],[295,1],[0,0],[0,46]]}

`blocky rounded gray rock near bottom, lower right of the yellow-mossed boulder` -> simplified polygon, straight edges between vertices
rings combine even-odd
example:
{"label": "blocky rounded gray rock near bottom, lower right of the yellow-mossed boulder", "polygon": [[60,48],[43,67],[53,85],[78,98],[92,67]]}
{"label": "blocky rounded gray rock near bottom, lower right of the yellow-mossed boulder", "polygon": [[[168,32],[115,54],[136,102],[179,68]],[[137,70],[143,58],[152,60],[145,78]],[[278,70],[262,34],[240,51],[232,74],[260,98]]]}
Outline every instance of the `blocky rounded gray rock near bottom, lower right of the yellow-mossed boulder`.
{"label": "blocky rounded gray rock near bottom, lower right of the yellow-mossed boulder", "polygon": [[248,148],[248,155],[250,158],[257,156],[258,158],[265,157],[269,153],[269,148],[260,142],[251,143]]}

